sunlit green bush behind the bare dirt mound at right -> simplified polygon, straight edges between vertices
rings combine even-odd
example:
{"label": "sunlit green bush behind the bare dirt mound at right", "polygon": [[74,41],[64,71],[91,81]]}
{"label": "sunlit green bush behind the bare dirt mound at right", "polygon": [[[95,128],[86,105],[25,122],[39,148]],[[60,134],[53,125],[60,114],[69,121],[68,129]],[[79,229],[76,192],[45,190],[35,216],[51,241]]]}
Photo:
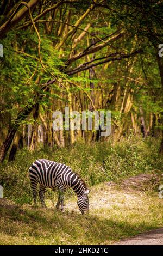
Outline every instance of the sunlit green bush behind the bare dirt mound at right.
{"label": "sunlit green bush behind the bare dirt mound at right", "polygon": [[129,139],[111,148],[111,154],[105,158],[105,170],[111,180],[118,181],[127,176],[139,173],[161,173],[163,162],[158,153],[159,145],[154,139]]}

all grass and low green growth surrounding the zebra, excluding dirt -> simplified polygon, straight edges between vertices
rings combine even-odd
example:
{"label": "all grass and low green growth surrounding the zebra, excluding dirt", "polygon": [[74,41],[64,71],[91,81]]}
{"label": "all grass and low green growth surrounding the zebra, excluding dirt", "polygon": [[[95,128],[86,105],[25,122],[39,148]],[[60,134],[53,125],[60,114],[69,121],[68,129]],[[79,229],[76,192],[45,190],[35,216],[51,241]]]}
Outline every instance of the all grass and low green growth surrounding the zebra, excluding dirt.
{"label": "all grass and low green growth surrounding the zebra, excluding dirt", "polygon": [[[158,149],[156,138],[129,136],[115,146],[101,142],[34,152],[19,150],[14,162],[5,160],[1,166],[0,185],[6,199],[0,199],[0,244],[108,245],[162,227],[158,184],[147,184],[144,192],[106,185],[107,181],[120,183],[140,173],[160,175],[163,159]],[[89,215],[80,214],[72,191],[66,192],[64,213],[54,209],[57,196],[52,190],[46,194],[48,209],[32,206],[28,168],[40,158],[67,164],[91,186]]]}

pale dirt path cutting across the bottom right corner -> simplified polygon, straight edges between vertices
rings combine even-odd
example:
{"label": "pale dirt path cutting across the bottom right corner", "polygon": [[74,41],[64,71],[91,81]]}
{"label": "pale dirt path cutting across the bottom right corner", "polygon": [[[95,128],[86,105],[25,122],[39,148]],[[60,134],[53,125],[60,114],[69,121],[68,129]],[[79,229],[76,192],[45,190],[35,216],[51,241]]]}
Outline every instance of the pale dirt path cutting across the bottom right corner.
{"label": "pale dirt path cutting across the bottom right corner", "polygon": [[163,245],[163,228],[151,230],[141,235],[123,239],[115,245]]}

